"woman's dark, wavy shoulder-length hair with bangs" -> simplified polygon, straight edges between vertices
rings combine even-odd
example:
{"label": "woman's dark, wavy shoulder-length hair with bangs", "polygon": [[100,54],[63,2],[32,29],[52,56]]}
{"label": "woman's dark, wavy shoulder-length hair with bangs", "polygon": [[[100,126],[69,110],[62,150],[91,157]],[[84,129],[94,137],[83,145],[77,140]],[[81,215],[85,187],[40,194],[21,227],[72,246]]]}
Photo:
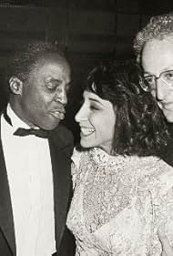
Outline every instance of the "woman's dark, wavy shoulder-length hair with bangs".
{"label": "woman's dark, wavy shoulder-length hair with bangs", "polygon": [[95,67],[87,77],[85,89],[109,100],[116,110],[112,154],[159,155],[168,145],[168,124],[134,61],[109,62]]}

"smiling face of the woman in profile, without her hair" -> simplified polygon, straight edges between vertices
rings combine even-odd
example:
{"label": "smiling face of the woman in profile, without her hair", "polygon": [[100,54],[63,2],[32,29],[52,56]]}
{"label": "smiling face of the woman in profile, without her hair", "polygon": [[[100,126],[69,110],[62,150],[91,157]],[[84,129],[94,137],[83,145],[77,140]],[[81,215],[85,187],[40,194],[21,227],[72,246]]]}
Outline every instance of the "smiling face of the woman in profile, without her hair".
{"label": "smiling face of the woman in profile, without her hair", "polygon": [[99,147],[110,153],[116,113],[109,101],[98,97],[95,93],[85,91],[84,104],[76,114],[76,122],[79,122],[81,128],[82,147]]}

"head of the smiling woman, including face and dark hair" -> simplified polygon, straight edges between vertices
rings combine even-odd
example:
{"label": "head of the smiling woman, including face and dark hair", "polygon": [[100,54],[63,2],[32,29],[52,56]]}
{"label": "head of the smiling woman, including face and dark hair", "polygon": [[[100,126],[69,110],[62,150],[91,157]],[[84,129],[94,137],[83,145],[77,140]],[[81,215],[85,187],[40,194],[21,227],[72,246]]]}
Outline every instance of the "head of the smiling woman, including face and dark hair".
{"label": "head of the smiling woman, including face and dark hair", "polygon": [[[84,87],[84,103],[76,114],[84,148],[104,148],[125,155],[158,154],[167,144],[168,129],[133,61],[95,67]],[[164,129],[163,129],[164,128]]]}

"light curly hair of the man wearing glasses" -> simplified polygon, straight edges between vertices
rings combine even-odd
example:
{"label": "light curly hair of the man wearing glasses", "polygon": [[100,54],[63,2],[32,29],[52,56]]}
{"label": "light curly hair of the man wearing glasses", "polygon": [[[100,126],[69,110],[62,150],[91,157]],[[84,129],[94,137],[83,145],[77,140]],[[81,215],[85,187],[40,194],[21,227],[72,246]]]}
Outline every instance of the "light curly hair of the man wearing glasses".
{"label": "light curly hair of the man wearing glasses", "polygon": [[134,40],[137,61],[140,61],[142,49],[148,41],[153,39],[163,40],[169,36],[173,37],[173,12],[152,16],[148,25],[137,33]]}

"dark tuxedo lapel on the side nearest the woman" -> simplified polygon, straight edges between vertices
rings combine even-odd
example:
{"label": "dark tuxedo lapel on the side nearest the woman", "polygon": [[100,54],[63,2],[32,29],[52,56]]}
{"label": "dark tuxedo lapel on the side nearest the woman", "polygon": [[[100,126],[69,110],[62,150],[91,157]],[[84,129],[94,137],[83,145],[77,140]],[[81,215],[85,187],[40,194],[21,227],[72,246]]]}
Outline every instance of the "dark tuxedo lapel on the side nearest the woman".
{"label": "dark tuxedo lapel on the side nearest the woman", "polygon": [[54,203],[56,220],[56,250],[58,251],[66,225],[66,213],[71,185],[71,160],[63,149],[49,139],[54,177]]}

